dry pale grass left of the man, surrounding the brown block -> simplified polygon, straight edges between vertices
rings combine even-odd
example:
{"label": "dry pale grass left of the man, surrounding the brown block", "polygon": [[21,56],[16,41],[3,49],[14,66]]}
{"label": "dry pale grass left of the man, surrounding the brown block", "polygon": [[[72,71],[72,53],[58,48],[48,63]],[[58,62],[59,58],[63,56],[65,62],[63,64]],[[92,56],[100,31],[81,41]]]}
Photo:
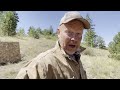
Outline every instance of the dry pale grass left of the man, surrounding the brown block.
{"label": "dry pale grass left of the man, surrounding the brown block", "polygon": [[34,39],[30,37],[0,37],[0,41],[19,42],[22,56],[22,61],[19,63],[0,66],[1,79],[15,78],[21,67],[23,67],[29,60],[36,57],[39,53],[54,47],[56,42],[45,38]]}

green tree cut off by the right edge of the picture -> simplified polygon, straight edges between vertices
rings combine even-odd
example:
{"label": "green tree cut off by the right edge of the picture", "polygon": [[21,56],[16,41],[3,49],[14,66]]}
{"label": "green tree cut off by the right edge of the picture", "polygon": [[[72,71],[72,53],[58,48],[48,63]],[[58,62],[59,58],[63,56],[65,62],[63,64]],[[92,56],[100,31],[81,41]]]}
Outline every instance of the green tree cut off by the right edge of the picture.
{"label": "green tree cut off by the right edge of the picture", "polygon": [[120,32],[113,38],[113,41],[109,43],[108,50],[110,57],[120,60]]}

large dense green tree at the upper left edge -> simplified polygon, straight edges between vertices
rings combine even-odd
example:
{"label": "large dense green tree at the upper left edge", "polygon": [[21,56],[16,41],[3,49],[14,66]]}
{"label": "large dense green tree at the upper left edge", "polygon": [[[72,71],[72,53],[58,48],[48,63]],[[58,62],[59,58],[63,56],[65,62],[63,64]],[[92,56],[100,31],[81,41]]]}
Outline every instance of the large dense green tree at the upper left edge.
{"label": "large dense green tree at the upper left edge", "polygon": [[15,11],[4,11],[0,15],[0,35],[13,36],[16,34],[18,15]]}

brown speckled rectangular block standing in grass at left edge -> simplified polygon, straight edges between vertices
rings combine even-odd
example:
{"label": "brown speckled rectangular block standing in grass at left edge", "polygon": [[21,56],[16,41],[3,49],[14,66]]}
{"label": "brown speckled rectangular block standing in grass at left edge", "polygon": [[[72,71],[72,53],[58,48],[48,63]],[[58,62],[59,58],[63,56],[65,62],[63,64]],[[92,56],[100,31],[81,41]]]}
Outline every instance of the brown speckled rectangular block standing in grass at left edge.
{"label": "brown speckled rectangular block standing in grass at left edge", "polygon": [[0,42],[0,63],[21,60],[19,42]]}

